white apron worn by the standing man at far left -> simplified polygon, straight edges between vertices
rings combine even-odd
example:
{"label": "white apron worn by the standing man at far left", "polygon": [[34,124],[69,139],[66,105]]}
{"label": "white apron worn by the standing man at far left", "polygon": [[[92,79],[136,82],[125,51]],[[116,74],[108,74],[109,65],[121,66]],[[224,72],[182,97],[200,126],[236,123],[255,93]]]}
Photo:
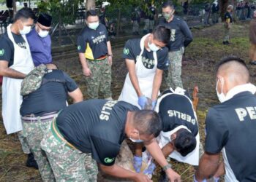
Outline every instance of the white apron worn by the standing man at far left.
{"label": "white apron worn by the standing man at far left", "polygon": [[[20,48],[18,44],[15,43],[10,26],[11,25],[8,25],[7,27],[7,33],[14,46],[14,60],[13,65],[10,66],[10,68],[20,71],[23,74],[29,74],[34,68],[29,43],[26,40],[26,36],[23,36],[23,39],[26,41],[26,49]],[[12,79],[6,76],[3,78],[2,116],[7,134],[22,130],[20,119],[20,104],[22,103],[20,87],[22,81],[23,79]]]}

